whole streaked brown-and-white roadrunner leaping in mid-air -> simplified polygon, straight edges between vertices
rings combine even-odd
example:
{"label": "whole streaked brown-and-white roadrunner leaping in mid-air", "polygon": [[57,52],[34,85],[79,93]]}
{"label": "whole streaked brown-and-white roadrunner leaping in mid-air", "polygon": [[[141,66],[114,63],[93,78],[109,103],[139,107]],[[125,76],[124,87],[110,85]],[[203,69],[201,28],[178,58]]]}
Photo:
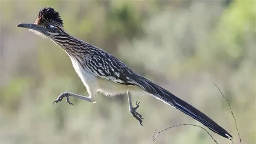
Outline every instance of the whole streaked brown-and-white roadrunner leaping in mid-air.
{"label": "whole streaked brown-and-white roadrunner leaping in mid-air", "polygon": [[59,13],[53,8],[42,8],[34,23],[21,23],[17,27],[30,29],[38,35],[50,38],[59,45],[70,57],[76,73],[89,93],[87,97],[71,92],[63,92],[53,103],[58,103],[63,98],[66,98],[66,101],[73,105],[69,101],[69,96],[88,102],[96,102],[97,92],[102,92],[109,96],[127,93],[129,111],[142,125],[142,115],[136,111],[140,102],[136,102],[135,107],[133,107],[131,93],[146,93],[191,116],[213,132],[227,139],[232,139],[232,136],[225,129],[195,107],[147,78],[133,72],[111,54],[69,35],[63,29],[63,20],[60,18]]}

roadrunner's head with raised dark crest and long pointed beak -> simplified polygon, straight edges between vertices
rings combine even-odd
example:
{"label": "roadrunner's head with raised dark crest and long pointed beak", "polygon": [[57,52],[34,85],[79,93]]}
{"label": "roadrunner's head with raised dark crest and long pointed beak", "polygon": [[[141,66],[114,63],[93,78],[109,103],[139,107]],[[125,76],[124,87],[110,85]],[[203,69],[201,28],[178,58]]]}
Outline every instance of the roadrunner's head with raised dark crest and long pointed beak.
{"label": "roadrunner's head with raised dark crest and long pointed beak", "polygon": [[59,12],[50,7],[42,8],[34,23],[20,23],[17,27],[30,29],[43,37],[53,37],[63,33],[63,21]]}

